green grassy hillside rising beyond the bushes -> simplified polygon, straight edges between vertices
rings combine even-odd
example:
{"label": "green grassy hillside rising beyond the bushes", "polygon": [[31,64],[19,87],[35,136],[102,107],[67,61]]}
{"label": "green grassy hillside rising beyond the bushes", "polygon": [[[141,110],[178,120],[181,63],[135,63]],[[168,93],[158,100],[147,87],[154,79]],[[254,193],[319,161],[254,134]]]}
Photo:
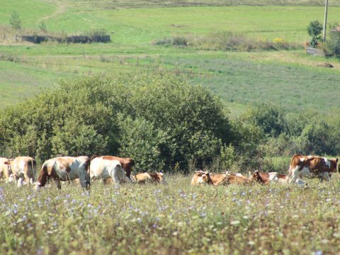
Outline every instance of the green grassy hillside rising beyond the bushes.
{"label": "green grassy hillside rising beyond the bushes", "polygon": [[[243,111],[248,103],[256,101],[275,101],[288,111],[314,108],[329,112],[339,108],[336,101],[340,96],[339,60],[306,56],[302,49],[221,52],[152,45],[152,41],[162,38],[209,35],[224,30],[244,33],[254,40],[283,38],[302,45],[308,39],[308,23],[323,18],[320,1],[299,1],[301,6],[289,6],[290,1],[238,2],[240,6],[228,6],[230,1],[181,1],[179,6],[178,1],[153,1],[152,5],[151,2],[145,5],[145,1],[0,0],[0,24],[3,25],[3,29],[0,28],[0,91],[5,95],[0,108],[49,89],[59,79],[96,72],[115,76],[119,72],[143,70],[174,72],[193,83],[204,84],[219,95],[233,113]],[[337,21],[338,4],[339,1],[332,2],[329,22]],[[169,8],[159,8],[162,6]],[[38,29],[38,23],[44,21],[51,33],[62,30],[68,34],[82,33],[105,28],[112,42],[31,45],[13,42],[15,31],[3,40],[2,33],[7,33],[9,16],[14,10],[23,23],[21,33],[26,30],[32,33]],[[324,62],[334,68],[318,66]]]}

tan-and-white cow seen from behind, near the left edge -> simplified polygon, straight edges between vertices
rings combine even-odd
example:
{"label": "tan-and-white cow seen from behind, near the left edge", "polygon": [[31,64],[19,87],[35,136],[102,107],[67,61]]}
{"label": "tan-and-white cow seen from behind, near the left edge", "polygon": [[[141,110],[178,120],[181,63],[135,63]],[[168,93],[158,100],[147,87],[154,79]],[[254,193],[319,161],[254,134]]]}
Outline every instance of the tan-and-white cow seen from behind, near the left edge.
{"label": "tan-and-white cow seen from behind, near the left edge", "polygon": [[23,183],[34,182],[36,162],[32,157],[16,157],[15,159],[8,159],[4,164],[8,165],[18,187],[21,187]]}

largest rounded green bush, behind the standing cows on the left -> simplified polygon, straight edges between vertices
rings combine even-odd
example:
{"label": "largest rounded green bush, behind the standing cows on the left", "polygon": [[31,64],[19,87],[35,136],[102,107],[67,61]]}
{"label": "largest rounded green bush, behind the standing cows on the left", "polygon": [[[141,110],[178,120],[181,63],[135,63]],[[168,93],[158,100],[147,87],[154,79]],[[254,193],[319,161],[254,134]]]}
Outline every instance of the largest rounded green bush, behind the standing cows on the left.
{"label": "largest rounded green bush, behind the standing cows on the left", "polygon": [[62,81],[6,109],[0,147],[41,161],[60,155],[135,157],[138,169],[212,162],[232,140],[222,103],[203,86],[154,74]]}

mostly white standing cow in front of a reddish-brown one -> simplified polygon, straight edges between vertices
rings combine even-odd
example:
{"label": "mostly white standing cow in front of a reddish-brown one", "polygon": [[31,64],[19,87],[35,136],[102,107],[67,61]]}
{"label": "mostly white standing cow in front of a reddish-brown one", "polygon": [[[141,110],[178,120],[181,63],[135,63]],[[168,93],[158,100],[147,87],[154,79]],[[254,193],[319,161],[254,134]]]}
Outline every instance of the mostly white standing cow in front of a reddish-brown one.
{"label": "mostly white standing cow in front of a reddish-brown one", "polygon": [[90,164],[91,179],[103,179],[104,183],[108,179],[112,179],[113,183],[121,183],[131,181],[128,176],[125,176],[125,171],[122,164],[118,160],[103,159],[103,157],[94,157]]}

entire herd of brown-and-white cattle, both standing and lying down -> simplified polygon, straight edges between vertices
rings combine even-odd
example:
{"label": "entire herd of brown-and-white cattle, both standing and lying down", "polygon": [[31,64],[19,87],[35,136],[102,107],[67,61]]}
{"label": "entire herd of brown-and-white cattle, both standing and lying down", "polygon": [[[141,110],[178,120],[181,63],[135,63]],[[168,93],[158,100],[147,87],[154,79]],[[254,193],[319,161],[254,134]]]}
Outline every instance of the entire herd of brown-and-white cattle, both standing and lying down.
{"label": "entire herd of brown-and-white cattle, both standing and lying down", "polygon": [[[247,177],[242,174],[211,174],[208,171],[196,171],[191,179],[191,185],[201,183],[212,185],[225,185],[230,183],[297,183],[306,185],[302,177],[319,178],[329,181],[331,174],[339,171],[337,168],[338,159],[327,159],[318,156],[302,156],[295,154],[290,159],[288,175],[277,172],[264,173],[254,171]],[[133,159],[114,156],[96,157],[56,157],[48,159],[41,166],[38,181],[35,182],[36,162],[32,157],[16,157],[14,159],[0,158],[0,177],[6,182],[15,181],[18,186],[23,184],[35,184],[36,188],[46,185],[50,180],[57,183],[61,188],[61,181],[79,181],[82,188],[90,188],[91,180],[101,179],[103,183],[122,182],[156,182],[165,183],[162,173],[141,173],[131,175],[132,167],[135,165]]]}

